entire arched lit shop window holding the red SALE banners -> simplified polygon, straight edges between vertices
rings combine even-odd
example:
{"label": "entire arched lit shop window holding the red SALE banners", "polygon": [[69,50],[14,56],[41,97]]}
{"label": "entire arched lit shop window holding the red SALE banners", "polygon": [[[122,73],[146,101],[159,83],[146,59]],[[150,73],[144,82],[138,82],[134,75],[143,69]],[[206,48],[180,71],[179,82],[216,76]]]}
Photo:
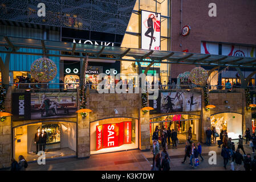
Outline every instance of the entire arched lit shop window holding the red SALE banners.
{"label": "entire arched lit shop window holding the red SALE banners", "polygon": [[91,155],[139,148],[138,126],[138,119],[133,118],[108,118],[91,122]]}

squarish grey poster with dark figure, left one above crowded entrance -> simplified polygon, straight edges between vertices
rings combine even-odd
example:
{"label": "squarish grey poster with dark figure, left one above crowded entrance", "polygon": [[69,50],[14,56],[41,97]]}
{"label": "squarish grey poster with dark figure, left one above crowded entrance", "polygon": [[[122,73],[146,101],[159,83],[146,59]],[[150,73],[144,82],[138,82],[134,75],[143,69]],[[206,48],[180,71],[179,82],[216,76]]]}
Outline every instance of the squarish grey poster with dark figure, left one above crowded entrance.
{"label": "squarish grey poster with dark figure, left one above crowded entrance", "polygon": [[184,94],[182,92],[161,93],[161,113],[182,112]]}

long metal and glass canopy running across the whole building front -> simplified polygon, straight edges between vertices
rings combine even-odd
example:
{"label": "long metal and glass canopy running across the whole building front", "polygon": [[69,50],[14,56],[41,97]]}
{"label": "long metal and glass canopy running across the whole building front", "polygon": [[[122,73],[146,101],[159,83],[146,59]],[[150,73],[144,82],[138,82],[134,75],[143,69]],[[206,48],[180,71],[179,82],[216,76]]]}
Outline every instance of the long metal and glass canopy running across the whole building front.
{"label": "long metal and glass canopy running across the whole building front", "polygon": [[[6,49],[6,47],[10,47],[11,50]],[[139,61],[148,63],[154,61],[155,63],[164,64],[178,63],[210,67],[229,66],[237,68],[256,68],[255,57],[235,57],[174,51],[151,51],[137,48],[96,46],[91,44],[26,39],[10,36],[0,36],[0,53],[75,58],[84,58],[85,56],[88,56],[89,59],[101,59],[103,62],[104,60]],[[147,57],[151,60],[144,60]]]}

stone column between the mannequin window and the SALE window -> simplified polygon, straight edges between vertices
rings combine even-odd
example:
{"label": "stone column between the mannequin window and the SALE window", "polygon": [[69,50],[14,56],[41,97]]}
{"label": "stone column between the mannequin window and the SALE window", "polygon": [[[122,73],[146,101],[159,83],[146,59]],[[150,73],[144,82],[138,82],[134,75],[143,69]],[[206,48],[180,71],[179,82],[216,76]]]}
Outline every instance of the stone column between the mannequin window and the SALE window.
{"label": "stone column between the mannequin window and the SALE window", "polygon": [[78,158],[90,157],[90,113],[82,117],[78,113]]}

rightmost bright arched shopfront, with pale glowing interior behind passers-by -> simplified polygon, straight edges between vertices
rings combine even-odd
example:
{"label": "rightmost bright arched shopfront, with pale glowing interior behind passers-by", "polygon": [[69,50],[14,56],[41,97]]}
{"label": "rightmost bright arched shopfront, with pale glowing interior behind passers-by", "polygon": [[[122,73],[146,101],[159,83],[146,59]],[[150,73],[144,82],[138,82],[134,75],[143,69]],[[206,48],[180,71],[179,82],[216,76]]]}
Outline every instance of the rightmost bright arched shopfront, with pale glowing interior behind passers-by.
{"label": "rightmost bright arched shopfront, with pale glowing interior behind passers-by", "polygon": [[238,139],[242,135],[242,114],[237,113],[220,113],[210,117],[211,127],[215,127],[218,134],[222,130],[232,139]]}

